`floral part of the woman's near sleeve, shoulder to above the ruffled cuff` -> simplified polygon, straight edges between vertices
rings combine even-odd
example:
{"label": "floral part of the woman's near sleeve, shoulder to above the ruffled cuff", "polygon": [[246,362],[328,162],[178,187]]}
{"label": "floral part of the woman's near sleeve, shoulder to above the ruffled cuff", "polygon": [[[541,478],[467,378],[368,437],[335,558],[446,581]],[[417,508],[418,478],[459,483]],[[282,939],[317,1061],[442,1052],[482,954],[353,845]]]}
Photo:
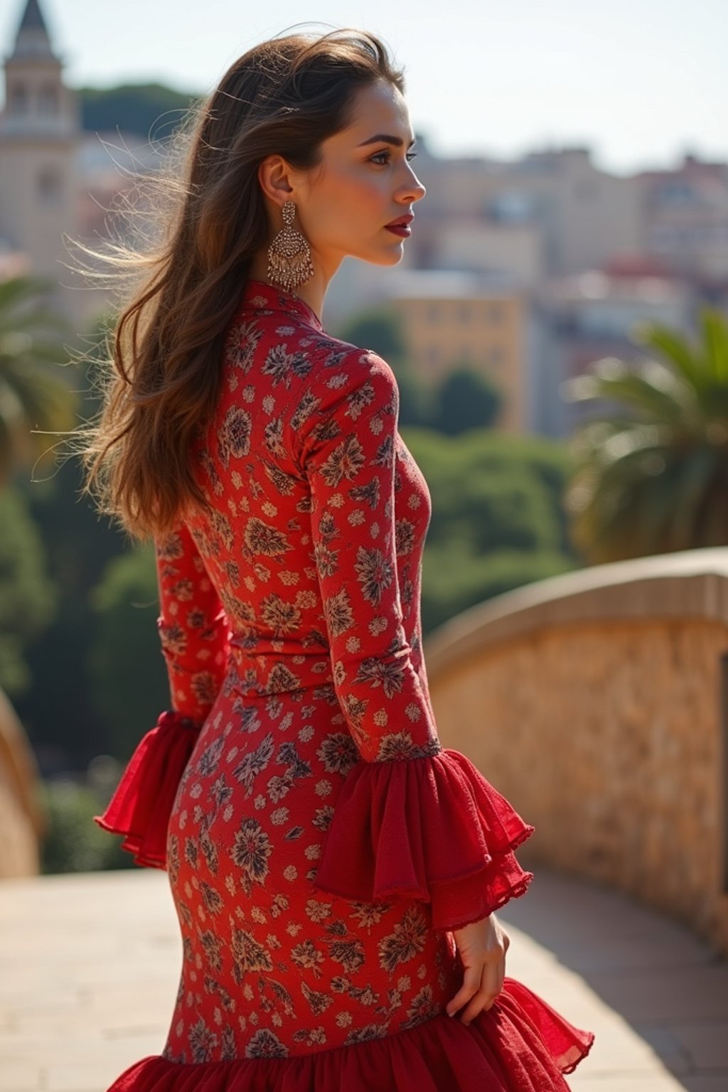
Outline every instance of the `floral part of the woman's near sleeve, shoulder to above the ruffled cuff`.
{"label": "floral part of the woman's near sleeve, shoulder to above the ruffled cuff", "polygon": [[311,489],[313,560],[331,662],[348,728],[367,761],[440,750],[403,625],[395,512],[398,391],[372,353],[319,377],[302,436]]}

